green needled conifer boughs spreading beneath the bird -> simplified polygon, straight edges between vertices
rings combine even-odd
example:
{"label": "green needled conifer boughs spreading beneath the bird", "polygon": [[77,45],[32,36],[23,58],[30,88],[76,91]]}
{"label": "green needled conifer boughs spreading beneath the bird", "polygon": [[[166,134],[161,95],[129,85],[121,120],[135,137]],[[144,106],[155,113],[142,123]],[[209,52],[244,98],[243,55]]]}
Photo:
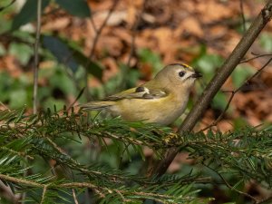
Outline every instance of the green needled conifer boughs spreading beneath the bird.
{"label": "green needled conifer boughs spreading beneath the bird", "polygon": [[[210,178],[201,178],[200,174],[189,173],[181,178],[144,178],[104,168],[95,162],[83,165],[73,158],[73,151],[65,148],[68,143],[82,141],[85,137],[95,141],[108,138],[123,148],[120,151],[123,155],[130,154],[127,148],[129,145],[135,145],[134,151],[140,154],[142,146],[151,148],[156,154],[177,148],[188,151],[189,157],[196,159],[199,165],[207,161],[218,165],[219,170],[235,173],[239,180],[257,180],[267,185],[267,188],[272,187],[272,130],[260,131],[248,127],[227,133],[187,132],[184,137],[179,137],[169,128],[154,124],[121,121],[118,118],[102,121],[96,119],[86,123],[84,117],[82,112],[73,112],[73,109],[72,112],[48,110],[39,115],[24,115],[24,109],[0,111],[0,180],[21,192],[41,189],[44,194],[41,192],[39,200],[44,204],[52,203],[53,198],[60,197],[57,190],[71,192],[73,189],[92,189],[97,198],[102,200],[133,202],[153,199],[167,203],[170,199],[180,198],[175,203],[186,203],[186,200],[198,200],[195,194],[187,194],[195,192],[193,183],[213,183]],[[102,147],[105,145],[108,144],[102,143]],[[43,174],[24,177],[25,170],[31,170],[31,166],[26,163],[27,169],[24,169],[19,161],[26,157],[32,160],[25,162],[34,162],[37,157],[54,160],[55,170],[59,165],[68,168],[73,175],[80,176],[83,182],[69,176],[63,180],[58,177],[58,173],[52,173],[49,177]],[[188,188],[191,190],[186,190]]]}

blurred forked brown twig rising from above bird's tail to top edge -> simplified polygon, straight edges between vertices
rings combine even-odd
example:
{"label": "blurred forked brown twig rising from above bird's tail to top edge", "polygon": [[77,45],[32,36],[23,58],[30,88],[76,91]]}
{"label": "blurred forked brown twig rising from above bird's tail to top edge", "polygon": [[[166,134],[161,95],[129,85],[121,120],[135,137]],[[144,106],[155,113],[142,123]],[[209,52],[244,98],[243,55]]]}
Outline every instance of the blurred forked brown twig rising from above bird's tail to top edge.
{"label": "blurred forked brown twig rising from above bird's tail to top edge", "polygon": [[[95,51],[95,48],[96,48],[96,45],[99,41],[99,38],[102,34],[102,29],[106,26],[108,20],[110,19],[113,11],[115,10],[116,6],[118,5],[120,0],[115,0],[112,4],[112,7],[108,13],[108,15],[106,16],[105,20],[103,21],[102,25],[97,28],[93,22],[93,19],[92,19],[92,16],[91,16],[91,23],[92,23],[92,26],[93,26],[93,29],[95,31],[95,36],[94,36],[94,39],[93,39],[93,44],[92,44],[92,49],[89,53],[89,59],[92,61],[93,60],[93,56],[94,56],[94,51]],[[86,99],[87,101],[91,101],[91,95],[90,95],[90,92],[89,92],[89,87],[88,87],[88,72],[87,72],[87,69],[90,65],[90,61],[88,61],[88,63],[86,63],[85,65],[85,84],[86,84],[86,88],[85,88],[85,96],[86,96]]]}

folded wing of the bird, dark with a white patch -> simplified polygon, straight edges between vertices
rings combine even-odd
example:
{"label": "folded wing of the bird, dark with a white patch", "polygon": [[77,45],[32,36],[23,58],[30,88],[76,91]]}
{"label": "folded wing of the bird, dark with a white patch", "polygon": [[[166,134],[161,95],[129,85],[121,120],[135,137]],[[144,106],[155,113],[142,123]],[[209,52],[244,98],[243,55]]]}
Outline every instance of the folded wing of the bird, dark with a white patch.
{"label": "folded wing of the bird, dark with a white patch", "polygon": [[116,93],[112,96],[105,98],[103,101],[120,101],[122,99],[158,99],[168,95],[168,92],[160,89],[149,89],[141,85],[136,88]]}

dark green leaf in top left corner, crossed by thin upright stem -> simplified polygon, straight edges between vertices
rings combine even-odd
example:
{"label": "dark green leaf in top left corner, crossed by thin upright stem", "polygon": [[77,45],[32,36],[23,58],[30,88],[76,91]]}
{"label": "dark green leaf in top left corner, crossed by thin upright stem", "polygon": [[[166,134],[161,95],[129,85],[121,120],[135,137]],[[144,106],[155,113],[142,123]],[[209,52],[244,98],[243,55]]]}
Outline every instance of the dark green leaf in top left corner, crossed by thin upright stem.
{"label": "dark green leaf in top left corner, crossed by thin upright stem", "polygon": [[[42,11],[49,4],[49,0],[42,1]],[[37,0],[27,0],[18,15],[15,15],[11,30],[18,29],[23,24],[30,23],[36,19],[37,15]]]}

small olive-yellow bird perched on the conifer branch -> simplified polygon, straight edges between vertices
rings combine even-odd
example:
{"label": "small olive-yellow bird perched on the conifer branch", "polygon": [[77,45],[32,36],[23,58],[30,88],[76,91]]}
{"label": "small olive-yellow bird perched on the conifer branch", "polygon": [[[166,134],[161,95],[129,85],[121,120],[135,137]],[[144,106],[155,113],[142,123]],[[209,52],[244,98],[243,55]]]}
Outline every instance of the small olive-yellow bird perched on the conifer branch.
{"label": "small olive-yellow bird perched on the conifer branch", "polygon": [[185,63],[169,64],[147,83],[81,107],[84,111],[107,110],[125,121],[169,125],[184,112],[190,89],[201,76]]}

